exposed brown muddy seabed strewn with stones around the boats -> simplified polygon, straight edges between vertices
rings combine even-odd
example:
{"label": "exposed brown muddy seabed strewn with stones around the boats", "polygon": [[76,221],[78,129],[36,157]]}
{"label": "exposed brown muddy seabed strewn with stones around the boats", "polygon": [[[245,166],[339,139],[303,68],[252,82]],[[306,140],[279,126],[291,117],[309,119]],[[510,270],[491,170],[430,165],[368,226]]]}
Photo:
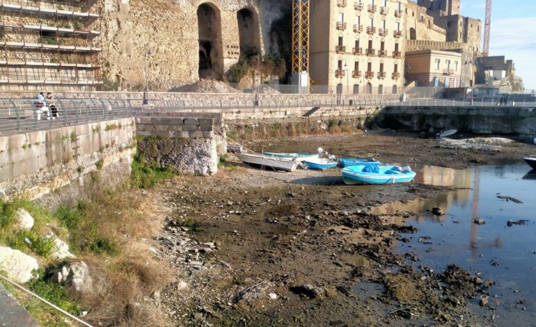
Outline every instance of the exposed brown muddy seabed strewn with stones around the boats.
{"label": "exposed brown muddy seabed strewn with stones around the boats", "polygon": [[[348,145],[345,146],[345,143]],[[250,142],[260,150],[370,155],[386,162],[455,168],[517,159],[530,145],[500,154],[446,150],[401,134],[308,136]],[[448,157],[441,160],[441,157]],[[433,271],[415,253],[391,248],[418,235],[411,212],[368,213],[395,201],[455,191],[443,186],[345,186],[338,170],[276,173],[236,164],[214,177],[177,177],[157,192],[168,207],[158,255],[176,282],[159,303],[180,326],[489,326],[494,282],[463,267]],[[432,208],[429,208],[432,210]],[[482,312],[482,311],[480,311]]]}

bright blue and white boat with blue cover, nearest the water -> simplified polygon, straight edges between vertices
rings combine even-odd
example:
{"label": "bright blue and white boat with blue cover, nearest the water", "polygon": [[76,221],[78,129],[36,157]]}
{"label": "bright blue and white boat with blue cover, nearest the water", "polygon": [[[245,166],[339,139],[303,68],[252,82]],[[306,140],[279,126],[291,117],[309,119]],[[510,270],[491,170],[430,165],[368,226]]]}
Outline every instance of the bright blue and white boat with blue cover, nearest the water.
{"label": "bright blue and white boat with blue cover, nearest the water", "polygon": [[341,170],[345,184],[395,184],[413,181],[417,175],[409,167],[350,166]]}

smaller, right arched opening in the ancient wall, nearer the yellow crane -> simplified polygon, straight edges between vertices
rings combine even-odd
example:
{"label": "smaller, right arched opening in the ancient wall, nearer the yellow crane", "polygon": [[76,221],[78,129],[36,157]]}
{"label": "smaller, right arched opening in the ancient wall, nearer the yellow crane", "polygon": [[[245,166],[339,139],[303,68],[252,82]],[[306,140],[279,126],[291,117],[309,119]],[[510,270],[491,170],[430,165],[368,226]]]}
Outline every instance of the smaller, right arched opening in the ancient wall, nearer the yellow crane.
{"label": "smaller, right arched opening in the ancient wall, nearer the yellow crane", "polygon": [[255,56],[260,52],[259,17],[248,8],[237,13],[238,33],[240,38],[240,56]]}

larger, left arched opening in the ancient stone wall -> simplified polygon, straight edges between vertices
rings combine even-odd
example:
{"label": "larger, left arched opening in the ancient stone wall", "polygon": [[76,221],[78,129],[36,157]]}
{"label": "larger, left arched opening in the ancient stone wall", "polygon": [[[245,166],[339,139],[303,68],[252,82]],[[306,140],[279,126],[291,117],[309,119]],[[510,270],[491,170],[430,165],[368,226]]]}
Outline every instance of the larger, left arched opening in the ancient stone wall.
{"label": "larger, left arched opening in the ancient stone wall", "polygon": [[199,31],[199,78],[223,79],[223,44],[218,8],[202,3],[197,8]]}

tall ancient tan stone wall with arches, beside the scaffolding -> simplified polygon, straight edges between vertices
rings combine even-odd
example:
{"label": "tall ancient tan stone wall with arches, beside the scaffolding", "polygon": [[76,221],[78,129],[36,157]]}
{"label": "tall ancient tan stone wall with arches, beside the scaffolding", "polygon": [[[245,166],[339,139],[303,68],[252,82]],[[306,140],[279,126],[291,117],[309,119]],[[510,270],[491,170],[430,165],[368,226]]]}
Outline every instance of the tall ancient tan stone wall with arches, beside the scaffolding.
{"label": "tall ancient tan stone wall with arches, beside the scaffolding", "polygon": [[[251,32],[247,38],[242,33],[243,50],[256,44],[263,53],[277,49],[271,44],[271,24],[291,6],[285,0],[102,1],[104,76],[119,81],[120,88],[143,90],[145,54],[150,51],[153,91],[194,83],[200,63],[207,68],[203,77],[221,78],[239,59],[239,26]],[[246,15],[238,15],[244,8]],[[249,44],[244,46],[244,40]],[[200,61],[200,52],[210,60]]]}

